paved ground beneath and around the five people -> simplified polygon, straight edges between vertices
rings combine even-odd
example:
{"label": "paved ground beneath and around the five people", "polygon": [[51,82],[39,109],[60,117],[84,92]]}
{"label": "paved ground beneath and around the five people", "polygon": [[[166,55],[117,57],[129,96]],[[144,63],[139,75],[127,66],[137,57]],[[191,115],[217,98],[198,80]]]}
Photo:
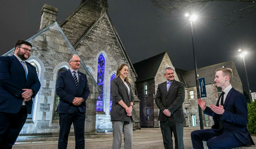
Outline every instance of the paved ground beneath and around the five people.
{"label": "paved ground beneath and around the five people", "polygon": [[[184,127],[184,146],[185,149],[192,149],[190,133],[200,127]],[[209,129],[209,127],[204,127]],[[111,149],[112,134],[99,134],[97,138],[85,140],[85,149]],[[174,140],[174,139],[173,139]],[[253,137],[256,142],[256,137]],[[123,149],[123,142],[122,147]],[[58,141],[35,142],[35,143],[18,143],[12,149],[58,149]],[[75,149],[75,140],[70,137],[67,149]],[[164,149],[163,138],[159,128],[142,128],[133,133],[133,149]],[[256,149],[256,146],[247,147],[246,149]]]}

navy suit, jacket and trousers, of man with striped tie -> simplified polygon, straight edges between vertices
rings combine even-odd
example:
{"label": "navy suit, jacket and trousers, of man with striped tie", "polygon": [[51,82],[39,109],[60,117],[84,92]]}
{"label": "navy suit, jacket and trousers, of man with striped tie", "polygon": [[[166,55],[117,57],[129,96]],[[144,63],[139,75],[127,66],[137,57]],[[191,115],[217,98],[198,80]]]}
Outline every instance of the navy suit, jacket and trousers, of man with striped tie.
{"label": "navy suit, jacket and trousers, of man with striped tie", "polygon": [[[76,149],[84,149],[84,121],[86,103],[90,90],[85,74],[78,72],[78,87],[70,69],[59,72],[56,81],[56,94],[60,97],[57,112],[60,116],[60,132],[58,148],[66,149],[71,124],[74,125]],[[84,102],[79,106],[73,105],[75,97],[81,97]]]}

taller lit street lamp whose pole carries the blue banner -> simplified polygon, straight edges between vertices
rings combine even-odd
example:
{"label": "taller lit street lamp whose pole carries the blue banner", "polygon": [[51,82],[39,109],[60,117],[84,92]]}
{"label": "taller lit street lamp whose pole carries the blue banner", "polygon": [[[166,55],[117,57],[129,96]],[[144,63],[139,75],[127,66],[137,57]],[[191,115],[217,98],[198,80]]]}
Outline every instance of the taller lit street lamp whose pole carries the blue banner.
{"label": "taller lit street lamp whose pole carries the blue banner", "polygon": [[[190,16],[190,14],[186,14],[186,17],[189,17],[189,21],[191,23],[192,46],[193,46],[194,64],[195,64],[195,82],[196,82],[198,99],[200,99],[199,80],[198,80],[198,73],[197,73],[197,66],[196,66],[194,35],[193,35],[193,26],[192,26],[192,21],[196,20],[197,17],[195,15]],[[199,105],[198,105],[198,110],[199,110],[200,129],[204,129],[202,109]]]}

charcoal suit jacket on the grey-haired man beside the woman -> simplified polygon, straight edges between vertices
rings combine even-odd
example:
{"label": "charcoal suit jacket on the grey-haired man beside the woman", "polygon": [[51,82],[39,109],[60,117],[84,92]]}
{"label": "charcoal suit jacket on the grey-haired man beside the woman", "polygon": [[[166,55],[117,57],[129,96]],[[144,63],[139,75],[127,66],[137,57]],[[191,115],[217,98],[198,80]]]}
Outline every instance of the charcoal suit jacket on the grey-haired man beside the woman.
{"label": "charcoal suit jacket on the grey-haired man beside the woman", "polygon": [[[173,80],[167,92],[166,81],[157,87],[156,105],[160,109],[158,120],[171,122],[185,121],[182,103],[185,99],[184,83]],[[170,117],[163,114],[163,111],[168,109],[172,115]]]}

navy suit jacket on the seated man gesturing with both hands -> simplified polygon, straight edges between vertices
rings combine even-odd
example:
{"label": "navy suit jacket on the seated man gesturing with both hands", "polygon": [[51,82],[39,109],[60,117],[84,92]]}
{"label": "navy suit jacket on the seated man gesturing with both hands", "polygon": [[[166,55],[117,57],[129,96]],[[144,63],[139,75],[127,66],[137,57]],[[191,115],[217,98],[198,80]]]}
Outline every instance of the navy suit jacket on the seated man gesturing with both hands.
{"label": "navy suit jacket on the seated man gesturing with both hands", "polygon": [[[220,97],[216,106],[218,106]],[[221,117],[224,131],[233,132],[233,134],[244,144],[251,145],[251,138],[247,130],[248,123],[248,111],[246,97],[235,90],[234,88],[230,89],[225,103],[223,105],[225,109],[224,114]],[[220,130],[219,128],[219,115],[213,112],[208,106],[204,110],[204,114],[213,117],[214,125],[212,126],[213,130]],[[254,144],[254,143],[253,143]]]}

